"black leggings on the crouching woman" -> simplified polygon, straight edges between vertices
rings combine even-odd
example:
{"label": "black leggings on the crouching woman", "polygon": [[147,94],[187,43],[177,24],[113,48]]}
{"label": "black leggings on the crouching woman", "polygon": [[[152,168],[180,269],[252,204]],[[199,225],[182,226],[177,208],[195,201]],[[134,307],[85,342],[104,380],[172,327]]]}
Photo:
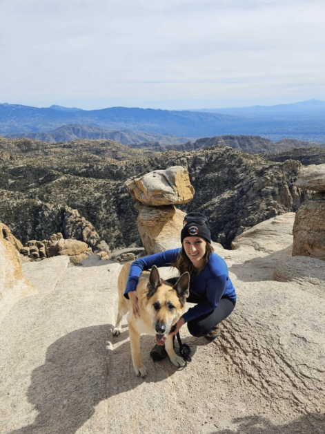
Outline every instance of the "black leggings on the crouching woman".
{"label": "black leggings on the crouching woman", "polygon": [[[170,283],[176,283],[177,278],[168,279]],[[188,303],[201,303],[202,301],[206,301],[206,297],[198,296],[193,292],[190,292],[190,296],[186,299]],[[188,331],[195,337],[202,337],[210,330],[215,327],[215,325],[219,324],[223,319],[228,317],[231,312],[233,312],[235,308],[235,301],[231,301],[230,299],[221,299],[218,303],[218,307],[208,314],[201,315],[201,317],[191,319],[188,321]]]}

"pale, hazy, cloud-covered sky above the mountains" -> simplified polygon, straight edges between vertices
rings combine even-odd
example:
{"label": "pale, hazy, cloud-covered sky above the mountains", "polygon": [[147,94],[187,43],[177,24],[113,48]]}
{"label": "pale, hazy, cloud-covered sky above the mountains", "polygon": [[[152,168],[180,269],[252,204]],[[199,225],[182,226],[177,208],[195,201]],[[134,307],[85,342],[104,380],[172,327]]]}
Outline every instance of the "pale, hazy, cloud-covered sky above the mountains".
{"label": "pale, hazy, cloud-covered sky above the mountains", "polygon": [[1,0],[0,102],[208,109],[325,100],[324,0]]}

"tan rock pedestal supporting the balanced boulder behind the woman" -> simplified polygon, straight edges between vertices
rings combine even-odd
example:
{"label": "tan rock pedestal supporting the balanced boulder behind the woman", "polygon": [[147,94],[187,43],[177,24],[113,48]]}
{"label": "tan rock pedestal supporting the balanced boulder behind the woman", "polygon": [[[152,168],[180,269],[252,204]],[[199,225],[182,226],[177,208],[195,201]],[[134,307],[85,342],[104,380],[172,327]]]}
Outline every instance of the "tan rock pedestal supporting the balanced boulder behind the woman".
{"label": "tan rock pedestal supporting the balanced boulder behind the woman", "polygon": [[181,247],[181,229],[186,213],[174,205],[146,207],[137,205],[137,227],[147,254]]}

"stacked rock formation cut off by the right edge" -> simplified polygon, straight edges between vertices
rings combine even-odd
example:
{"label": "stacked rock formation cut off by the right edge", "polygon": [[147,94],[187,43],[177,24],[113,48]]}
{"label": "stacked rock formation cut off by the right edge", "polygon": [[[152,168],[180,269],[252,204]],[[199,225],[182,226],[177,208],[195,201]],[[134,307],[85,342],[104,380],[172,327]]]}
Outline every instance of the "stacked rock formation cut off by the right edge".
{"label": "stacked rock formation cut off by the right edge", "polygon": [[298,209],[293,227],[293,256],[325,261],[325,164],[304,167],[296,187],[317,191]]}

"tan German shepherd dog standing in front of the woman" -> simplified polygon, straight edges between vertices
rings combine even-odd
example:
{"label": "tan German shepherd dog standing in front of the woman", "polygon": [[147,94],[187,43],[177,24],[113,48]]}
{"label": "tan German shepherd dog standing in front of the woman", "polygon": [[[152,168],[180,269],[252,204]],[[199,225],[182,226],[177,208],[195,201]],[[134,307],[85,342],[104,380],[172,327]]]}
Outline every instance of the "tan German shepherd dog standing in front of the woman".
{"label": "tan German shepherd dog standing in front of the woman", "polygon": [[179,368],[185,361],[175,354],[173,336],[168,335],[170,329],[177,323],[185,311],[186,298],[189,296],[190,274],[182,274],[175,285],[160,279],[157,267],[154,265],[151,272],[142,272],[137,283],[137,298],[140,317],[135,317],[130,300],[124,297],[126,282],[131,263],[126,263],[119,274],[119,313],[113,334],[118,336],[121,332],[121,319],[128,314],[128,329],[130,331],[130,344],[135,374],[144,377],[146,368],[141,361],[140,334],[155,336],[157,343],[165,343],[166,352],[170,361]]}

